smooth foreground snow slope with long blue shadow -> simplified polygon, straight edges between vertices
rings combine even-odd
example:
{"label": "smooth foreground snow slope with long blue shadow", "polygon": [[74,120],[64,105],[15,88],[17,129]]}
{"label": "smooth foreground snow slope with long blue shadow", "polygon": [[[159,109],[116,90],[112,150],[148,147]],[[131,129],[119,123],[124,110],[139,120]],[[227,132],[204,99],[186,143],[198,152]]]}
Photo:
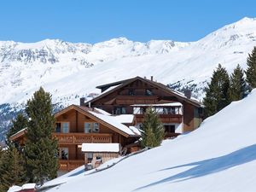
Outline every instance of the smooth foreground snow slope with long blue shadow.
{"label": "smooth foreground snow slope with long blue shadow", "polygon": [[84,173],[50,192],[232,191],[256,183],[256,90],[206,119],[201,127],[122,160],[108,170]]}

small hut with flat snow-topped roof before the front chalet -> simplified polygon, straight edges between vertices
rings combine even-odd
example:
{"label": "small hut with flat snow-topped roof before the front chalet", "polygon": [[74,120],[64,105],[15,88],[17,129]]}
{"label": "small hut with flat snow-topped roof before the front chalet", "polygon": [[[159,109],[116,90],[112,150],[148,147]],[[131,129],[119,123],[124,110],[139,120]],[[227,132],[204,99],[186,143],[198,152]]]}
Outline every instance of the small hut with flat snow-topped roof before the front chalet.
{"label": "small hut with flat snow-topped roof before the front chalet", "polygon": [[85,170],[100,166],[102,163],[120,155],[119,143],[83,143]]}

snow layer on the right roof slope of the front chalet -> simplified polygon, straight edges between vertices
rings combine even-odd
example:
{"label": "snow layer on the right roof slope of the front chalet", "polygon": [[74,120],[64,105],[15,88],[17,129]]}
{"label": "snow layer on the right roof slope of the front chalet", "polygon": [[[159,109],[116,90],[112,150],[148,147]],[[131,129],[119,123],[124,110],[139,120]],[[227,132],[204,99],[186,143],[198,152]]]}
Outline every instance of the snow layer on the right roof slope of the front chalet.
{"label": "snow layer on the right roof slope of the front chalet", "polygon": [[137,135],[134,131],[131,131],[131,129],[128,126],[121,124],[119,122],[119,120],[116,120],[113,116],[104,115],[102,113],[95,113],[95,112],[92,112],[92,111],[88,111],[88,113],[93,114],[94,116],[96,116],[96,118],[102,119],[103,121],[105,121],[109,125],[113,125],[114,127],[119,129],[120,131],[123,131],[123,132],[125,132],[126,134],[128,134],[130,136],[136,136]]}

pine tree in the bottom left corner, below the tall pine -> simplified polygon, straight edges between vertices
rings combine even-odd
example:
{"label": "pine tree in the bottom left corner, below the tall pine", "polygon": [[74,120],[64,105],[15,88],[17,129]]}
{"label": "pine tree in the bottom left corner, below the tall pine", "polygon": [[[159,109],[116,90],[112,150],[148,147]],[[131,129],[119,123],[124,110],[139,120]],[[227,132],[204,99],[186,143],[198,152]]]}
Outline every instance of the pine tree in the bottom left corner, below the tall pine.
{"label": "pine tree in the bottom left corner, below the tall pine", "polygon": [[0,191],[7,191],[12,185],[26,182],[24,158],[14,145],[9,145],[0,161]]}

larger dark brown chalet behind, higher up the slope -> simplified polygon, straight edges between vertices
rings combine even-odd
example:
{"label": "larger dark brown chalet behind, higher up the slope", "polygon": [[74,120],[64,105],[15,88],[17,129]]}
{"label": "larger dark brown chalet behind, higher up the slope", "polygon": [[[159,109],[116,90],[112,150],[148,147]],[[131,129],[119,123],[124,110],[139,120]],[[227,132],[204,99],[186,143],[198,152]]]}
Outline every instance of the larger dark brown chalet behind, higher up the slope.
{"label": "larger dark brown chalet behind, higher up the slope", "polygon": [[183,95],[155,82],[153,77],[125,79],[96,88],[102,93],[89,102],[81,98],[80,106],[101,108],[113,115],[134,114],[137,127],[142,125],[146,108],[152,107],[159,114],[169,137],[194,131],[201,125],[201,103],[191,97],[191,91],[187,90]]}

